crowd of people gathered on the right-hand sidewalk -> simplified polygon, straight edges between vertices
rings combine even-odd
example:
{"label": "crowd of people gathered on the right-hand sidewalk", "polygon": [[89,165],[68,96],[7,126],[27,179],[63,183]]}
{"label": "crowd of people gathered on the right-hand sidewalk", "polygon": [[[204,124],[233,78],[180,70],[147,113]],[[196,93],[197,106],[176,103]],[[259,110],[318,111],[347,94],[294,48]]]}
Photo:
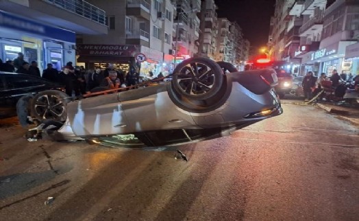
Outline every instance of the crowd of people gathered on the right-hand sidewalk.
{"label": "crowd of people gathered on the right-hand sidewalk", "polygon": [[[341,73],[339,75],[336,69],[333,70],[332,76],[327,77],[326,73],[321,73],[319,78],[313,75],[312,71],[308,71],[303,79],[301,85],[303,86],[304,100],[311,100],[312,97],[322,91],[323,87],[331,87],[332,89],[339,89],[338,86],[341,82],[354,82],[354,85],[359,85],[359,75],[355,77],[351,73]],[[328,84],[328,82],[330,84]],[[343,87],[344,89],[344,87]],[[345,93],[345,91],[343,91]],[[342,92],[342,93],[343,93]]]}

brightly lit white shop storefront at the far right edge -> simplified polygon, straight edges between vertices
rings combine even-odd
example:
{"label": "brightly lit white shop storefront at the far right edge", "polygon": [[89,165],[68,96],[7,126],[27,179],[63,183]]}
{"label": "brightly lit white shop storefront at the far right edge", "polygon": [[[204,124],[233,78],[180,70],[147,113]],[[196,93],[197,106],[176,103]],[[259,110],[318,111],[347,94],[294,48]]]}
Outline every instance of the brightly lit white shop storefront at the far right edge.
{"label": "brightly lit white shop storefront at the far right edge", "polygon": [[345,49],[345,68],[347,73],[359,75],[359,43],[348,45]]}

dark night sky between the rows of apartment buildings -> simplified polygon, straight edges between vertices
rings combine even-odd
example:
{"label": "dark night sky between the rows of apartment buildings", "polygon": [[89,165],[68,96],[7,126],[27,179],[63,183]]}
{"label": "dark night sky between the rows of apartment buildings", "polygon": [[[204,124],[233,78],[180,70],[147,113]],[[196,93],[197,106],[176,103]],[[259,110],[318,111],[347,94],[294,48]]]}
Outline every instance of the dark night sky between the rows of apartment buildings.
{"label": "dark night sky between the rows of apartment buildings", "polygon": [[214,0],[219,18],[236,21],[251,46],[266,46],[275,0]]}

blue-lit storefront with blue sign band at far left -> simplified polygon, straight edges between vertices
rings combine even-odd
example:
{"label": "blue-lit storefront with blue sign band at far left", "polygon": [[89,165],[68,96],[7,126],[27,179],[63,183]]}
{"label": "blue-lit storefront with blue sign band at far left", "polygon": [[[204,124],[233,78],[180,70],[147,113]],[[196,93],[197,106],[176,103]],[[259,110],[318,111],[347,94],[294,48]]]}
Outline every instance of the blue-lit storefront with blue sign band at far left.
{"label": "blue-lit storefront with blue sign band at far left", "polygon": [[14,60],[18,52],[27,62],[36,61],[40,72],[52,63],[60,70],[75,62],[75,32],[51,27],[0,10],[0,58]]}

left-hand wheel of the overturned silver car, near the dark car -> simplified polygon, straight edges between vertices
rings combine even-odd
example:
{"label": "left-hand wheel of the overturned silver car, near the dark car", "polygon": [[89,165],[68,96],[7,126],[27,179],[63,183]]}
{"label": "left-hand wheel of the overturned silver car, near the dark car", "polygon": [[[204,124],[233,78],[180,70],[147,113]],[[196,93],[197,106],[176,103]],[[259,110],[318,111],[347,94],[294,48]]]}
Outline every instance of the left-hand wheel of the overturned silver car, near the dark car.
{"label": "left-hand wheel of the overturned silver car, near the dark car", "polygon": [[40,121],[45,119],[65,121],[68,100],[69,96],[61,91],[42,91],[32,100],[32,114]]}

